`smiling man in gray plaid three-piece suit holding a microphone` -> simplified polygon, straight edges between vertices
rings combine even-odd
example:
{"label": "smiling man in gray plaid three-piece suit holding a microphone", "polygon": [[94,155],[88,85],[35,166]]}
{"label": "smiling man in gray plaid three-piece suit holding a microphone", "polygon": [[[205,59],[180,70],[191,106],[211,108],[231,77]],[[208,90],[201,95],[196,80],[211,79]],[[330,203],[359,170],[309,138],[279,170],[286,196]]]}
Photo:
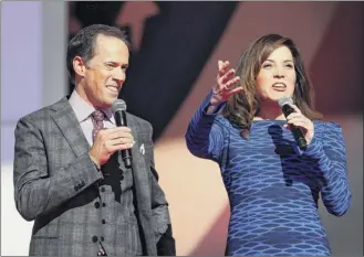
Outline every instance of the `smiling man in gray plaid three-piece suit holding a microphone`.
{"label": "smiling man in gray plaid three-piece suit holding a microphone", "polygon": [[168,204],[153,175],[152,126],[127,114],[128,127],[116,127],[111,110],[128,58],[117,28],[84,28],[67,47],[72,95],[19,120],[14,197],[34,219],[30,255],[175,255]]}

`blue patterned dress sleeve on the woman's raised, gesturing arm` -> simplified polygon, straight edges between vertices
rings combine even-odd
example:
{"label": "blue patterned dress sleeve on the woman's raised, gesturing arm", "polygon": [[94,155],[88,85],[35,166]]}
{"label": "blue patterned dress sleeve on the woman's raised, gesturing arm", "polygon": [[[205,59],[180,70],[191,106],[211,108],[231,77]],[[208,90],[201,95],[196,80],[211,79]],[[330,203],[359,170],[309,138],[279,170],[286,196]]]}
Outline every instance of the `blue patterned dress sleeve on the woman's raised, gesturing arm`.
{"label": "blue patterned dress sleeve on the woman's raised, gesturing arm", "polygon": [[202,100],[191,117],[185,135],[188,150],[196,157],[219,161],[225,146],[225,130],[217,118],[221,105],[214,114],[207,114],[211,93]]}

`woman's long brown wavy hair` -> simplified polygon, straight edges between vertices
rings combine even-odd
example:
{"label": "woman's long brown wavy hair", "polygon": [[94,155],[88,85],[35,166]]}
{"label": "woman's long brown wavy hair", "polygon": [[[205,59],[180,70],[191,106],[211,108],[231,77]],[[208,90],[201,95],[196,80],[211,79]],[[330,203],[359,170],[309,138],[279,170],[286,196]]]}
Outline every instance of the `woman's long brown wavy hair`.
{"label": "woman's long brown wavy hair", "polygon": [[279,34],[268,34],[252,42],[242,52],[236,74],[240,77],[243,90],[233,94],[227,101],[222,115],[230,122],[241,129],[243,137],[249,137],[249,129],[253,117],[259,113],[259,98],[257,95],[257,76],[262,63],[278,47],[287,46],[293,56],[297,82],[293,93],[293,101],[309,119],[322,119],[322,114],[314,110],[314,90],[309,76],[304,69],[304,64],[293,41]]}

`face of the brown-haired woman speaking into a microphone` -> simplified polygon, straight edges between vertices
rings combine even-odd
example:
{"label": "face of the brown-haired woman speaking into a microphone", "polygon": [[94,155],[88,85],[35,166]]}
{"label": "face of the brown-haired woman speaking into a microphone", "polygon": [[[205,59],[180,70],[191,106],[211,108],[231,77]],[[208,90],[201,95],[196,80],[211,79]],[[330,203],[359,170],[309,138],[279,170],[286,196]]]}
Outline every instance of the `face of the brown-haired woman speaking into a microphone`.
{"label": "face of the brown-haired woman speaking into a microphone", "polygon": [[287,46],[274,50],[262,63],[257,76],[257,93],[260,100],[278,101],[292,97],[295,85],[293,56]]}

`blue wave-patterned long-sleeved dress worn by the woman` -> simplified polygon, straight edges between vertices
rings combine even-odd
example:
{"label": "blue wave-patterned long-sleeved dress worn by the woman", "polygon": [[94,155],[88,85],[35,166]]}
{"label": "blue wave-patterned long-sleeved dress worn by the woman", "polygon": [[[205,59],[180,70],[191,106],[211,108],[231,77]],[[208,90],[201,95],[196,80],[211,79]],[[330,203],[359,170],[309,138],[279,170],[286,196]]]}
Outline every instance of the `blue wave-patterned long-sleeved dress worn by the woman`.
{"label": "blue wave-patterned long-sleeved dress worn by the woman", "polygon": [[343,215],[350,205],[346,153],[334,122],[314,121],[314,137],[302,152],[285,120],[257,120],[250,140],[221,115],[205,113],[207,96],[190,120],[189,151],[216,161],[230,202],[227,255],[327,256],[318,214]]}

